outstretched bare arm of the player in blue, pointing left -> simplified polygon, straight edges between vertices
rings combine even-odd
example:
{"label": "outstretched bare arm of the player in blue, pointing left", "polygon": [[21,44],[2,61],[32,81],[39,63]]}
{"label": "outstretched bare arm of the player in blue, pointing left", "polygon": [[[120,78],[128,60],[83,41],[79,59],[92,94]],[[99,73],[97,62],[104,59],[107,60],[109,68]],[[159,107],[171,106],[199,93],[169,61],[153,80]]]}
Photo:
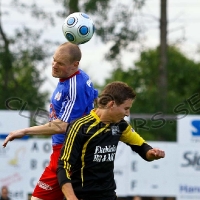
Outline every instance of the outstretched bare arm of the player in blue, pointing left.
{"label": "outstretched bare arm of the player in blue, pointing left", "polygon": [[57,133],[63,133],[66,131],[67,126],[68,123],[56,119],[44,125],[15,130],[9,133],[3,142],[3,146],[6,147],[9,141],[12,141],[16,138],[21,138],[25,135],[53,135]]}

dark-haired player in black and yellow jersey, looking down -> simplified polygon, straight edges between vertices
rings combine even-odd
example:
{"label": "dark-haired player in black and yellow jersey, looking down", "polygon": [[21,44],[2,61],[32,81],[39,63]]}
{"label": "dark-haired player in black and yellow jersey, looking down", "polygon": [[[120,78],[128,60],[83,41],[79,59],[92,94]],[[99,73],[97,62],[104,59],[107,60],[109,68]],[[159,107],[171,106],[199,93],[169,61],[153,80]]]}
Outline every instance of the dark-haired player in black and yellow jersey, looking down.
{"label": "dark-haired player in black and yellow jersey, looking down", "polygon": [[164,158],[124,117],[130,115],[135,92],[123,82],[112,82],[98,99],[98,108],[67,130],[59,158],[57,177],[67,200],[116,200],[114,159],[119,141],[146,161]]}

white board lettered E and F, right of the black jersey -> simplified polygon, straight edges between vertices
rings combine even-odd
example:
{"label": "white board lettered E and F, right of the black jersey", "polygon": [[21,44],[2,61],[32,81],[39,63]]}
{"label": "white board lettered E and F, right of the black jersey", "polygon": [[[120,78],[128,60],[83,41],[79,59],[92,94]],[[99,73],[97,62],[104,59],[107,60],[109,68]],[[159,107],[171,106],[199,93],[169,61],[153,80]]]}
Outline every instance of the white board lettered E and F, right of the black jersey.
{"label": "white board lettered E and F, right of the black jersey", "polygon": [[[165,150],[166,158],[147,162],[125,144],[121,144],[120,149],[118,149],[119,151],[117,150],[116,160],[118,162],[115,163],[115,171],[116,169],[118,171],[126,169],[123,183],[120,183],[119,176],[115,174],[118,196],[176,195],[177,182],[174,179],[177,176],[178,163],[177,156],[174,156],[174,152],[177,151],[177,144],[168,142],[149,142],[149,144]],[[122,163],[124,166],[122,166]],[[122,184],[123,186],[126,185],[126,187],[121,186]]]}

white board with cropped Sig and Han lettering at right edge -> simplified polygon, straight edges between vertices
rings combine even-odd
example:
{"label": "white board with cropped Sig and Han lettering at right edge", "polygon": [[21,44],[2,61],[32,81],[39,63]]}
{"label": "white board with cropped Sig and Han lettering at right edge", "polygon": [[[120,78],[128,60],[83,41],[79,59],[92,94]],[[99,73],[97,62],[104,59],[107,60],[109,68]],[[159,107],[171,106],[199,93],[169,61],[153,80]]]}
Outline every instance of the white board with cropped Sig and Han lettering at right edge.
{"label": "white board with cropped Sig and Han lettering at right edge", "polygon": [[200,199],[200,146],[179,145],[177,200]]}

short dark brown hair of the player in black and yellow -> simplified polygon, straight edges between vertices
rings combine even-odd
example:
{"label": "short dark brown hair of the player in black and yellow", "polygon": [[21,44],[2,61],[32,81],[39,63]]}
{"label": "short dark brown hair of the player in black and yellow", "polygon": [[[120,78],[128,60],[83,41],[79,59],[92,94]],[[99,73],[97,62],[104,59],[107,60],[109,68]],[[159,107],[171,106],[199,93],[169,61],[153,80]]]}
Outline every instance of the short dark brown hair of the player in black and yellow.
{"label": "short dark brown hair of the player in black and yellow", "polygon": [[114,81],[106,85],[98,99],[98,106],[105,107],[109,101],[115,101],[117,105],[123,104],[127,99],[135,99],[136,93],[126,83]]}

